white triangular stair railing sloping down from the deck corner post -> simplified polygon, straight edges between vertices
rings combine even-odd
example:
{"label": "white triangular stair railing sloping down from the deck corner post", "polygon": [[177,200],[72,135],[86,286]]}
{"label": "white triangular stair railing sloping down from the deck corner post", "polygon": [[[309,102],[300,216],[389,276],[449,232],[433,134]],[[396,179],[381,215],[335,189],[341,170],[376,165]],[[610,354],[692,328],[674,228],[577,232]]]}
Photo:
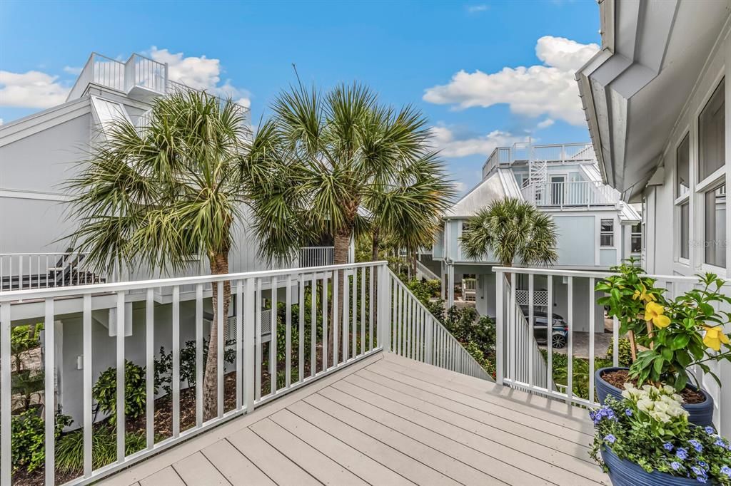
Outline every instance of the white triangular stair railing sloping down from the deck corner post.
{"label": "white triangular stair railing sloping down from the deck corner post", "polygon": [[447,331],[393,272],[390,274],[390,340],[386,349],[423,363],[467,374],[492,378],[477,360]]}

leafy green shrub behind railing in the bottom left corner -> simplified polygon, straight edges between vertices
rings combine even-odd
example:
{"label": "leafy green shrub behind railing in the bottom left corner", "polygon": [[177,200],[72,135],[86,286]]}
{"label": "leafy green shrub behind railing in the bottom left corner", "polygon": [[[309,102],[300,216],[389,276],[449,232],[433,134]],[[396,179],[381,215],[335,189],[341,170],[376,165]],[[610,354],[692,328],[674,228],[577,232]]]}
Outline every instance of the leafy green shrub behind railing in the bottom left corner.
{"label": "leafy green shrub behind railing in the bottom left corner", "polygon": [[[56,439],[64,427],[70,425],[71,417],[56,413]],[[34,409],[12,417],[12,469],[33,472],[45,465],[45,420]]]}

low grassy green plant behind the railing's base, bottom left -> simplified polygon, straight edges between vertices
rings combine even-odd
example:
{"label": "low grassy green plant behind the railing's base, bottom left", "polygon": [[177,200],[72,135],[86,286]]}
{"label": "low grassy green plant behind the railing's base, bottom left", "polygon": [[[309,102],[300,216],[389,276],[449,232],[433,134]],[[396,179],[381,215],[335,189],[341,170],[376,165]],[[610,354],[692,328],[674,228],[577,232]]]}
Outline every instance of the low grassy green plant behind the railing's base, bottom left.
{"label": "low grassy green plant behind the railing's base, bottom left", "polygon": [[[124,434],[124,452],[134,454],[147,446],[144,432]],[[101,468],[117,460],[117,433],[107,425],[94,428],[91,433],[91,467]],[[83,471],[84,468],[84,433],[77,430],[64,433],[56,444],[56,469],[69,473]]]}

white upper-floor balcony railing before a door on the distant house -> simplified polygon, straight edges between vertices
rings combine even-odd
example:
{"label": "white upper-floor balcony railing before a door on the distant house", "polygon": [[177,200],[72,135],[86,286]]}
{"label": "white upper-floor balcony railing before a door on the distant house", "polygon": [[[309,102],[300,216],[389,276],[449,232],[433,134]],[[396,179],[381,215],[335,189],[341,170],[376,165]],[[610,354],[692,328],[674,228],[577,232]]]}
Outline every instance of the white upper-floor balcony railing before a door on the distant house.
{"label": "white upper-floor balcony railing before a door on the distant house", "polygon": [[594,181],[532,183],[520,189],[539,207],[593,207],[619,204],[618,190]]}

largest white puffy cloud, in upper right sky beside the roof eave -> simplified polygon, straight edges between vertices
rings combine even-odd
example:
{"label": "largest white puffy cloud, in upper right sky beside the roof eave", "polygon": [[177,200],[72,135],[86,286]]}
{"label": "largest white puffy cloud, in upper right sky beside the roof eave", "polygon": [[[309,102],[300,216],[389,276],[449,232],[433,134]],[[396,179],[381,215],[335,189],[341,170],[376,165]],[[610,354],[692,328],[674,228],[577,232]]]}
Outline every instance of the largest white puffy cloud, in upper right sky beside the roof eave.
{"label": "largest white puffy cloud, in upper right sky beside the roof eave", "polygon": [[580,126],[585,117],[574,73],[598,50],[596,44],[543,36],[536,44],[536,55],[545,65],[504,67],[496,73],[461,70],[448,84],[425,90],[423,99],[457,109],[506,103],[517,115],[548,115]]}

